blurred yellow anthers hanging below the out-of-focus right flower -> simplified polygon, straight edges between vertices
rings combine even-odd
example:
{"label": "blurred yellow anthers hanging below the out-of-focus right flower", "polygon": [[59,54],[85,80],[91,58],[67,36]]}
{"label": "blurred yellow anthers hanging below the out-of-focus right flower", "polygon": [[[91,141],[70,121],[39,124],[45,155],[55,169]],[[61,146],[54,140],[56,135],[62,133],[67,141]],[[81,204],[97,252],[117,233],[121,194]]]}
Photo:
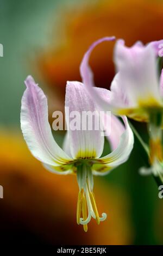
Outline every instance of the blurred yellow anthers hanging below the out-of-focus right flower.
{"label": "blurred yellow anthers hanging below the out-of-focus right flower", "polygon": [[151,164],[154,162],[155,158],[158,159],[159,161],[162,161],[162,145],[160,139],[151,139],[149,141],[149,149]]}

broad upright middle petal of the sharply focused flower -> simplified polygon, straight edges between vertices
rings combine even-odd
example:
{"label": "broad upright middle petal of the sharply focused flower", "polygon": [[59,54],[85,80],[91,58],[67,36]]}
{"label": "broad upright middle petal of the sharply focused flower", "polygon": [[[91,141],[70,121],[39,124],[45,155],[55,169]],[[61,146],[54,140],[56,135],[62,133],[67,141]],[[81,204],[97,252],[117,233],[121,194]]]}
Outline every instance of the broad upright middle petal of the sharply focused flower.
{"label": "broad upright middle petal of the sharply focused flower", "polygon": [[101,156],[104,136],[99,113],[83,83],[67,82],[65,106],[72,157],[84,159]]}

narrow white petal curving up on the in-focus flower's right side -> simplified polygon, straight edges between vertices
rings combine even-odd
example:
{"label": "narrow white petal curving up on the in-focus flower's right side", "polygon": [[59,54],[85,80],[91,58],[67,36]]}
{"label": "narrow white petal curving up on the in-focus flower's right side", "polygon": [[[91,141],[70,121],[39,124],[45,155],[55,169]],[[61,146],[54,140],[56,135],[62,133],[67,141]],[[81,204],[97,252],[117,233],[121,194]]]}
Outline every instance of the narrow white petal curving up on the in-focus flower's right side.
{"label": "narrow white petal curving up on the in-focus flower's right side", "polygon": [[126,130],[122,133],[117,148],[110,154],[101,157],[99,162],[93,165],[92,169],[96,170],[96,174],[97,172],[99,172],[99,175],[106,173],[128,160],[131,150],[133,149],[134,135],[130,129],[127,118],[122,118]]}

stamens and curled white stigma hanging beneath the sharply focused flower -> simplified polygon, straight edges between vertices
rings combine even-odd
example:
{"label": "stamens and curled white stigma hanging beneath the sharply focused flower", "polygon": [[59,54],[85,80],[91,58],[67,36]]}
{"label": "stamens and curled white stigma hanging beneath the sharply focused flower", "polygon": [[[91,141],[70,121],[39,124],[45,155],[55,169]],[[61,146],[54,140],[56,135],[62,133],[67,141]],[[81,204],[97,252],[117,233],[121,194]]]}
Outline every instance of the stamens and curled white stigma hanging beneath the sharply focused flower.
{"label": "stamens and curled white stigma hanging beneath the sharply focused flower", "polygon": [[107,215],[99,217],[95,196],[93,194],[93,174],[89,164],[82,162],[77,167],[77,180],[79,185],[77,204],[77,223],[82,224],[84,231],[87,231],[87,223],[91,217],[96,219],[97,224],[106,220]]}

